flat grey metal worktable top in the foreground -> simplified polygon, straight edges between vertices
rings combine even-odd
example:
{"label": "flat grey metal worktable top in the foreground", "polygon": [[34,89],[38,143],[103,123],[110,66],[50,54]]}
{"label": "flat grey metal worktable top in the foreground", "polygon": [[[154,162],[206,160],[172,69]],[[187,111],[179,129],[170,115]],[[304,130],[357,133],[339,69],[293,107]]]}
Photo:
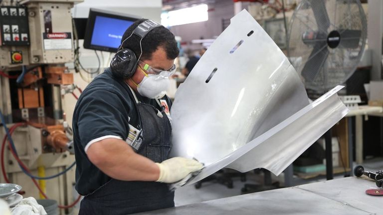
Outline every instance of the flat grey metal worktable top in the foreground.
{"label": "flat grey metal worktable top in the foreground", "polygon": [[365,194],[375,182],[348,177],[264,191],[141,215],[383,215],[383,197]]}

